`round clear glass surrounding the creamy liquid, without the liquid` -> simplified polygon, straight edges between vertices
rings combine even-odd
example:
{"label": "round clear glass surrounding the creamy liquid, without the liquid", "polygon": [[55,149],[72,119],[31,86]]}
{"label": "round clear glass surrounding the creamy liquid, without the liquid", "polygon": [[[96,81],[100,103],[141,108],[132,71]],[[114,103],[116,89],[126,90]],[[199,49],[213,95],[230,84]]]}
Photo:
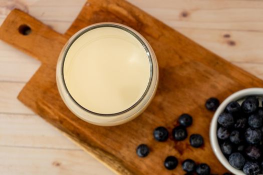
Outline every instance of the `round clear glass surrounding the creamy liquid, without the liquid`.
{"label": "round clear glass surrounding the creamy liquid, without the liquid", "polygon": [[[137,102],[135,102],[129,108],[114,113],[98,113],[84,107],[77,100],[73,98],[72,94],[68,90],[67,85],[65,83],[65,76],[64,76],[65,58],[72,44],[83,34],[100,27],[115,27],[132,34],[136,39],[138,39],[140,44],[142,44],[143,48],[145,49],[148,55],[149,63],[150,63],[150,79],[147,88],[145,89],[142,96],[139,98],[139,100],[137,100]],[[81,29],[80,31],[78,31],[77,33],[75,33],[63,47],[58,59],[57,70],[56,70],[58,89],[64,103],[68,106],[68,108],[79,118],[96,125],[104,125],[104,126],[118,125],[128,122],[134,119],[135,117],[137,117],[140,113],[142,113],[149,105],[149,103],[151,102],[152,98],[155,95],[157,84],[158,84],[158,77],[159,77],[159,71],[158,71],[157,59],[148,41],[134,29],[123,24],[112,23],[112,22],[96,23],[87,26]]]}

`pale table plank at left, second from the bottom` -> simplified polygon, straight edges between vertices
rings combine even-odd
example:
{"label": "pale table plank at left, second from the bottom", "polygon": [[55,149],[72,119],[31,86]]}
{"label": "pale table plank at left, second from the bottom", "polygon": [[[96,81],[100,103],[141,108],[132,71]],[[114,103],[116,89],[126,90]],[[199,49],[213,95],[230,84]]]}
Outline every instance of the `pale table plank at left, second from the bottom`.
{"label": "pale table plank at left, second from the bottom", "polygon": [[38,115],[3,113],[0,146],[81,149]]}

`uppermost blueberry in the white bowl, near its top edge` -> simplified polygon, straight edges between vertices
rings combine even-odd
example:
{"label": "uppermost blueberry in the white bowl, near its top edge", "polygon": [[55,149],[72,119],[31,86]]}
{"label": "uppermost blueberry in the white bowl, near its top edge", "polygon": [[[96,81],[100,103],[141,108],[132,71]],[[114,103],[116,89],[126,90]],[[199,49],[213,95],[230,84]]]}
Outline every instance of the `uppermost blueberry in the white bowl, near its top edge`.
{"label": "uppermost blueberry in the white bowl, near its top edge", "polygon": [[255,96],[248,96],[242,102],[241,108],[244,113],[253,113],[257,110],[259,105],[258,99]]}

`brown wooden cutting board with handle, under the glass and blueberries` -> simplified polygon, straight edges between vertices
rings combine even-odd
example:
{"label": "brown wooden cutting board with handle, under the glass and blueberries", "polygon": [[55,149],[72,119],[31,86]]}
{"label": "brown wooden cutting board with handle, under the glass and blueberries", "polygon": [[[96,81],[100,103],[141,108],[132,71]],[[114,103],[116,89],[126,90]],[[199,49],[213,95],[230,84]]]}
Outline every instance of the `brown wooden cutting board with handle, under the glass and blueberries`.
{"label": "brown wooden cutting board with handle, under the glass and blueberries", "polygon": [[[76,117],[63,103],[55,78],[58,55],[69,37],[87,25],[105,21],[123,23],[139,31],[152,45],[160,69],[158,90],[146,111],[126,124],[112,127],[96,126]],[[262,80],[124,0],[89,0],[64,34],[15,9],[1,26],[0,38],[42,61],[18,98],[121,174],[183,174],[180,165],[174,170],[164,168],[163,161],[168,155],[176,156],[179,163],[186,158],[207,163],[215,174],[226,172],[209,143],[213,112],[205,109],[204,102],[211,96],[222,101],[246,87],[263,87]],[[171,131],[181,113],[193,116],[188,135],[203,135],[203,147],[191,147],[189,137],[175,141],[170,135],[166,142],[154,140],[153,129],[162,125]],[[135,152],[141,143],[151,149],[145,158],[139,158]]]}

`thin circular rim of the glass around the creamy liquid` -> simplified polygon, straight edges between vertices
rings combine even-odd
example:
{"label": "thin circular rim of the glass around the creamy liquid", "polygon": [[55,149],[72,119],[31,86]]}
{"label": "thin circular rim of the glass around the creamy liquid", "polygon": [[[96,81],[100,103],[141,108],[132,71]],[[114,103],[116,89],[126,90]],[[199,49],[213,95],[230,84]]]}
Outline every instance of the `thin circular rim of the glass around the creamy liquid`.
{"label": "thin circular rim of the glass around the creamy liquid", "polygon": [[[68,87],[66,85],[66,82],[65,82],[65,78],[64,78],[64,64],[65,64],[65,59],[66,59],[66,56],[67,56],[67,53],[69,51],[69,49],[71,48],[72,44],[80,37],[82,36],[83,34],[87,33],[88,31],[91,31],[93,29],[96,29],[96,28],[101,28],[101,27],[115,27],[115,28],[119,28],[119,29],[122,29],[124,31],[127,31],[128,33],[130,33],[131,35],[133,35],[141,44],[142,46],[144,47],[145,51],[146,51],[146,54],[148,56],[148,59],[149,59],[149,63],[150,63],[150,78],[149,78],[149,81],[148,81],[148,84],[147,84],[147,87],[144,91],[144,93],[142,94],[142,96],[133,104],[131,105],[129,108],[125,109],[125,110],[122,110],[120,112],[115,112],[115,113],[98,113],[98,112],[94,112],[92,110],[89,110],[87,108],[85,108],[84,106],[82,106],[80,103],[78,103],[78,101],[76,101],[74,99],[74,97],[71,95],[71,93],[69,92],[68,90]],[[128,112],[129,110],[133,109],[135,106],[137,106],[142,100],[143,98],[146,96],[147,92],[149,91],[149,88],[151,86],[151,83],[152,83],[152,78],[153,78],[153,61],[152,61],[152,54],[151,54],[151,51],[150,49],[148,48],[147,44],[141,39],[141,37],[136,34],[134,31],[132,31],[131,29],[123,26],[123,25],[118,25],[118,24],[115,24],[115,23],[101,23],[101,24],[97,24],[97,25],[93,25],[93,26],[90,26],[90,27],[87,27],[87,28],[84,28],[83,30],[80,30],[76,33],[76,35],[73,37],[73,39],[67,44],[67,47],[63,53],[63,56],[62,56],[62,64],[61,64],[61,76],[62,76],[62,84],[63,86],[65,87],[65,90],[66,90],[66,93],[69,95],[69,97],[72,99],[72,101],[77,105],[79,106],[81,109],[85,110],[86,112],[89,112],[89,113],[92,113],[92,114],[95,114],[95,115],[99,115],[99,116],[115,116],[115,115],[120,115],[120,114],[123,114],[125,112]]]}

